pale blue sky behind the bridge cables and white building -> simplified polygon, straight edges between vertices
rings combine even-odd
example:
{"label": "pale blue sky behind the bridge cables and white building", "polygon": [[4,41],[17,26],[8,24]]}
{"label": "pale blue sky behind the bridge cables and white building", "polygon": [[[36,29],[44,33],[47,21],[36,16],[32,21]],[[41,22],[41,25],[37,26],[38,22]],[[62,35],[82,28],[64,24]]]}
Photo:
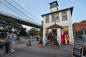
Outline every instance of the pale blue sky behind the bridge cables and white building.
{"label": "pale blue sky behind the bridge cables and white building", "polygon": [[[12,0],[9,0],[9,1],[12,2]],[[27,12],[29,12],[33,16],[35,16],[36,17],[35,21],[37,21],[38,23],[40,23],[43,20],[41,15],[50,12],[49,3],[53,2],[53,1],[58,2],[59,10],[69,8],[69,7],[74,7],[73,14],[72,14],[72,23],[86,20],[86,0],[14,0],[14,1],[16,1],[21,7],[23,7],[26,10],[26,11],[24,11],[24,10],[22,10],[22,11],[25,12],[27,15],[29,15],[27,13]],[[14,4],[14,2],[12,2],[12,3]],[[17,4],[14,4],[14,5],[16,7],[18,7]],[[2,6],[1,3],[0,3],[0,6]],[[23,16],[19,16],[19,14],[15,13],[14,11],[10,10],[9,8],[7,9],[7,8],[2,6],[2,8],[0,10],[6,11],[10,14],[14,14],[18,17],[23,18]],[[18,8],[21,9],[20,7],[18,7]],[[27,17],[25,17],[25,18],[27,18]],[[30,28],[27,26],[24,26],[24,27],[26,27],[28,29]]]}

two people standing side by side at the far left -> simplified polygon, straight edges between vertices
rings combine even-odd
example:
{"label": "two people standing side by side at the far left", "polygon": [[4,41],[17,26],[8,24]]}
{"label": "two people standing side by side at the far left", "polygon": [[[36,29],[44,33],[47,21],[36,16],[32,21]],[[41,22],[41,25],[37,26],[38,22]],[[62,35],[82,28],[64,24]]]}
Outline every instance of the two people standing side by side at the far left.
{"label": "two people standing side by side at the far left", "polygon": [[12,32],[6,32],[7,37],[5,40],[5,52],[14,52],[15,51],[15,41],[17,39],[17,35]]}

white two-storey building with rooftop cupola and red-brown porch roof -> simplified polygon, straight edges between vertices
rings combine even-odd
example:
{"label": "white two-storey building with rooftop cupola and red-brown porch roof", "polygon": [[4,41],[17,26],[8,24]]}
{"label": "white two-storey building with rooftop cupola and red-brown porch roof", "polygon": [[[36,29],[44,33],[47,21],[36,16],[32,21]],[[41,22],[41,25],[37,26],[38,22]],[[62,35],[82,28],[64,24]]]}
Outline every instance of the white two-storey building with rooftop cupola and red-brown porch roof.
{"label": "white two-storey building with rooftop cupola and red-brown porch roof", "polygon": [[46,34],[56,30],[57,40],[62,44],[62,34],[68,35],[69,43],[74,43],[72,30],[73,7],[58,10],[57,1],[50,3],[50,13],[43,14],[43,42],[47,40]]}

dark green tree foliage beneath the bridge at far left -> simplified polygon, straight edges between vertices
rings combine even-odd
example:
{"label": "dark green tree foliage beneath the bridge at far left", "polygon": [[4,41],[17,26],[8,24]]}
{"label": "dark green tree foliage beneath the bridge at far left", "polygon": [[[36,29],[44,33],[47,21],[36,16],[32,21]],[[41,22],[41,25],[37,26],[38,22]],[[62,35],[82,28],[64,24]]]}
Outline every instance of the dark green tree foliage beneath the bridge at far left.
{"label": "dark green tree foliage beneath the bridge at far left", "polygon": [[12,28],[14,28],[15,30],[19,31],[22,28],[22,25],[14,19],[0,16],[0,27],[2,27],[3,30],[11,31]]}

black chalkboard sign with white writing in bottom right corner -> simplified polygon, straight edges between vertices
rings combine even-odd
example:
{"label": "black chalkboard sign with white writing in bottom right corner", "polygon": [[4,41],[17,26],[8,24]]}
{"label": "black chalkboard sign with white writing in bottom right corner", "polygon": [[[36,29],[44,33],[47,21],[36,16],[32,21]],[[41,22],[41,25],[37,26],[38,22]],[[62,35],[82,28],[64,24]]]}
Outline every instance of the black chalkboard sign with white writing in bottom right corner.
{"label": "black chalkboard sign with white writing in bottom right corner", "polygon": [[82,57],[83,55],[83,44],[74,44],[73,46],[73,56]]}

